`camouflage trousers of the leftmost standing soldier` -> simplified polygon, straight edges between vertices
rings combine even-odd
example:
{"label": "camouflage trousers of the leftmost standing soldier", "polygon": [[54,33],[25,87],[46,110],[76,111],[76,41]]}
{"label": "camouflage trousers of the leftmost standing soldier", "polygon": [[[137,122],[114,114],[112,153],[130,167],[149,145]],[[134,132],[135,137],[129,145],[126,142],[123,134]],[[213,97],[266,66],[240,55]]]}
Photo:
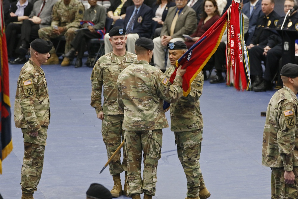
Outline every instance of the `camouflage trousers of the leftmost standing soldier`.
{"label": "camouflage trousers of the leftmost standing soldier", "polygon": [[[47,129],[47,127],[41,127],[38,134],[46,135]],[[24,135],[28,134],[28,129],[22,128],[22,132]],[[37,191],[37,185],[44,166],[44,148],[44,145],[24,141],[24,158],[21,172],[22,193],[33,194]]]}

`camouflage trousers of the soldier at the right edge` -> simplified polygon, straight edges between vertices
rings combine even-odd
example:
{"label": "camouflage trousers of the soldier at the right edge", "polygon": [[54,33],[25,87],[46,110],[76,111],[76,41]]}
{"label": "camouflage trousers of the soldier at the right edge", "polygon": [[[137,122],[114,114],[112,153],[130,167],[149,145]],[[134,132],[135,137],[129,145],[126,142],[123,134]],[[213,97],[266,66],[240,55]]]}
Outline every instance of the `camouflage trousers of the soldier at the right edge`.
{"label": "camouflage trousers of the soldier at the right edge", "polygon": [[271,167],[271,198],[272,199],[297,199],[298,195],[298,166],[293,167],[295,174],[294,184],[285,183],[285,170]]}

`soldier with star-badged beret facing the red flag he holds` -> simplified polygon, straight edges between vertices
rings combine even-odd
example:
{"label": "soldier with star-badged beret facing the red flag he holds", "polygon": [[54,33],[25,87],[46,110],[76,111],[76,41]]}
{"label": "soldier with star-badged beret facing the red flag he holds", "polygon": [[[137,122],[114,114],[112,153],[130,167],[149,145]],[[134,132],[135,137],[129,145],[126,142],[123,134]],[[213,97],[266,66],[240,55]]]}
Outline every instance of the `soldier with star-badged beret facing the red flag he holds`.
{"label": "soldier with star-badged beret facing the red flag he holds", "polygon": [[[164,73],[170,78],[175,70],[176,61],[187,51],[183,41],[171,42],[169,61],[171,67]],[[203,140],[203,117],[200,111],[200,96],[204,84],[204,75],[201,71],[191,84],[191,91],[187,97],[182,96],[170,105],[171,131],[174,131],[177,144],[178,158],[183,166],[187,179],[187,198],[205,199],[210,192],[200,168],[201,141]]]}

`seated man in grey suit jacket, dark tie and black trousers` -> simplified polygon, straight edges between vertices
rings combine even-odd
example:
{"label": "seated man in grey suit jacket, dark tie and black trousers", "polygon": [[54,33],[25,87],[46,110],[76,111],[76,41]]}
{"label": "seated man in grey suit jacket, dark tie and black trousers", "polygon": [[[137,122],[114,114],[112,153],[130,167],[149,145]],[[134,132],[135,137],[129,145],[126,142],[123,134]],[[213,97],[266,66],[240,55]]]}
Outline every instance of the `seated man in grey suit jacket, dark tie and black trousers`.
{"label": "seated man in grey suit jacket, dark tie and black trousers", "polygon": [[25,55],[30,47],[30,42],[38,38],[38,30],[51,25],[52,9],[57,1],[35,1],[29,19],[23,20],[21,25],[20,46],[17,48],[19,56],[15,60],[10,61],[10,64],[21,64],[26,61]]}

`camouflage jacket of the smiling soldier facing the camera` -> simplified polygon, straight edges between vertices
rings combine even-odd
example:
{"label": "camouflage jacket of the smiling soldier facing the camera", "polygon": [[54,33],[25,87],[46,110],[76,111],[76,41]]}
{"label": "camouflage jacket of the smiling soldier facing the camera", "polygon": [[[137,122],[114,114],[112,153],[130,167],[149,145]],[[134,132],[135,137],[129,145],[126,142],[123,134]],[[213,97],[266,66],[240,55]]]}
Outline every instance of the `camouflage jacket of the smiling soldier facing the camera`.
{"label": "camouflage jacket of the smiling soldier facing the camera", "polygon": [[[101,56],[93,67],[91,73],[91,106],[95,108],[96,114],[103,111],[104,115],[123,114],[117,102],[117,79],[123,69],[136,60],[136,55],[126,51],[122,60],[111,52]],[[114,69],[118,68],[117,71]],[[101,93],[103,87],[103,106]]]}

